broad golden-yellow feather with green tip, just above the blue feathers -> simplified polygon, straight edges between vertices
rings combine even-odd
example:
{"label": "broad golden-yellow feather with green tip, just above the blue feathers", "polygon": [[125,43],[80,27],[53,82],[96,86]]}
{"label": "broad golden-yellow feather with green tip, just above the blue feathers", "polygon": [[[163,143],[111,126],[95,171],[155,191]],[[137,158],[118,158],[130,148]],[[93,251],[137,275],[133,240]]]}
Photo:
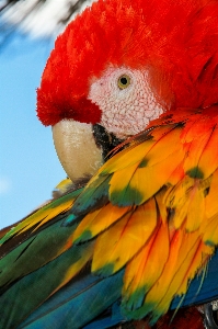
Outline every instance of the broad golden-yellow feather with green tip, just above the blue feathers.
{"label": "broad golden-yellow feather with green tip, just above the blue feathers", "polygon": [[108,264],[113,266],[113,273],[118,271],[147,242],[156,225],[157,209],[153,200],[126,214],[97,237],[92,271],[99,271]]}

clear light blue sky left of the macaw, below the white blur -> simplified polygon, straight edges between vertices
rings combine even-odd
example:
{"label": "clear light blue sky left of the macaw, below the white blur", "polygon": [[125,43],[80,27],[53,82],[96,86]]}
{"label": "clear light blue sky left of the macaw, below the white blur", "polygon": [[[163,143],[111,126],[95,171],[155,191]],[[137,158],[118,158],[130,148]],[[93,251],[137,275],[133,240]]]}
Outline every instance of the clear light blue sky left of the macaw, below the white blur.
{"label": "clear light blue sky left of the macaw, below the white blur", "polygon": [[53,42],[14,37],[0,53],[0,228],[48,200],[66,174],[50,127],[36,117],[35,90]]}

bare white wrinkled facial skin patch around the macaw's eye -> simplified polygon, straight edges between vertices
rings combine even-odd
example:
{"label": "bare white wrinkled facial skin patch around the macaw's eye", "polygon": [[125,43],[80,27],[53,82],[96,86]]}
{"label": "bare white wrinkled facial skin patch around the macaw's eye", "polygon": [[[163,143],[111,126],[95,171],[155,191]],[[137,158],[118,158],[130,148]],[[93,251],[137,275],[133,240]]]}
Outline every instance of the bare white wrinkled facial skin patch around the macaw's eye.
{"label": "bare white wrinkled facial skin patch around the macaw's eye", "polygon": [[118,138],[140,133],[163,113],[148,75],[147,70],[110,67],[91,83],[88,98],[102,111],[100,124]]}

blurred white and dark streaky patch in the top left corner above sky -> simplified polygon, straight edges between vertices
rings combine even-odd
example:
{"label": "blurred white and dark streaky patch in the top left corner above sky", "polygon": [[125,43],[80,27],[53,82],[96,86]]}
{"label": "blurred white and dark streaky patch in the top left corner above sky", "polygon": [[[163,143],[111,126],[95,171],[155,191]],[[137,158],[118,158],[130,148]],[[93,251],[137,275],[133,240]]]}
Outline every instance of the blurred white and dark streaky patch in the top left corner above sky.
{"label": "blurred white and dark streaky patch in the top left corner above sky", "polygon": [[0,47],[19,31],[32,37],[57,36],[93,0],[0,0]]}

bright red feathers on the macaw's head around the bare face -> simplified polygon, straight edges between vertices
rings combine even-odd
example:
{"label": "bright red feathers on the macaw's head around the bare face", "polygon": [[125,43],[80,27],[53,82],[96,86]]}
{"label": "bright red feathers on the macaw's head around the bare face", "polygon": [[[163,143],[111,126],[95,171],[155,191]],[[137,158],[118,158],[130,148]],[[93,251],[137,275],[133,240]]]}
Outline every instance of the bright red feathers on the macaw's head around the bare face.
{"label": "bright red feathers on the macaw's head around the bare face", "polygon": [[44,125],[100,122],[87,100],[92,77],[110,65],[150,70],[172,107],[218,103],[218,1],[100,0],[55,44],[37,90]]}

